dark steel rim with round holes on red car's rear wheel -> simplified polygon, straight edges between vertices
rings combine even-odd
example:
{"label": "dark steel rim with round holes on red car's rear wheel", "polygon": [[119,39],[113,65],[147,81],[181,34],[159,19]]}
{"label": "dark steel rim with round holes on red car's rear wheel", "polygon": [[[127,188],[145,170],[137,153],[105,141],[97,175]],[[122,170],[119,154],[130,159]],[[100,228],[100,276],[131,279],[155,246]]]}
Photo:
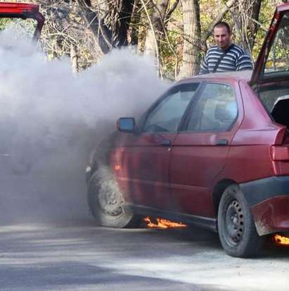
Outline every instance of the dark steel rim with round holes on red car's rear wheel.
{"label": "dark steel rim with round holes on red car's rear wheel", "polygon": [[233,199],[226,210],[226,240],[229,244],[236,246],[243,238],[244,216],[238,200]]}

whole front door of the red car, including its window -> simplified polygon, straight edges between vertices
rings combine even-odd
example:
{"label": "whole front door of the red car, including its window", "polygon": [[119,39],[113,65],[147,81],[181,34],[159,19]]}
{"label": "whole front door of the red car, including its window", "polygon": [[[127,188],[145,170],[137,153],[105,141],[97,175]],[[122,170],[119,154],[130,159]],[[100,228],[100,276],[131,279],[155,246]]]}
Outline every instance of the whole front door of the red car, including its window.
{"label": "whole front door of the red car, including its window", "polygon": [[122,153],[123,179],[136,205],[169,209],[171,146],[198,84],[176,85],[148,111],[139,134],[129,135]]}

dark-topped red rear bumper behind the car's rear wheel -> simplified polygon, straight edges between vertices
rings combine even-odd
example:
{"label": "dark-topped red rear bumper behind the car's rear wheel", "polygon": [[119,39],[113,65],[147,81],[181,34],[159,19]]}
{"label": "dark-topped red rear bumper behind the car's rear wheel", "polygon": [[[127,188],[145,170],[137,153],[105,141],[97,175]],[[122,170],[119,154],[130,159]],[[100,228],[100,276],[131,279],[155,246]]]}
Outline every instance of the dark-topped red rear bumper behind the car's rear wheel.
{"label": "dark-topped red rear bumper behind the car's rear wheel", "polygon": [[289,231],[289,176],[240,184],[259,235]]}

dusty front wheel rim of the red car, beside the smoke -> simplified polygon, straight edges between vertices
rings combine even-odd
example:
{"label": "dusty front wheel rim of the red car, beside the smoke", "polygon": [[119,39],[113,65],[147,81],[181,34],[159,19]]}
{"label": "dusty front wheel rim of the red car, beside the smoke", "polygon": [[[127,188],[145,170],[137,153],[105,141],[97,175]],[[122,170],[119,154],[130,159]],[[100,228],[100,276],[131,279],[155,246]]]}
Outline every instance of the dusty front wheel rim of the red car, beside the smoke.
{"label": "dusty front wheel rim of the red car, beside the smoke", "polygon": [[110,216],[118,216],[122,213],[122,195],[113,189],[109,182],[101,183],[101,189],[98,192],[98,202],[101,210]]}

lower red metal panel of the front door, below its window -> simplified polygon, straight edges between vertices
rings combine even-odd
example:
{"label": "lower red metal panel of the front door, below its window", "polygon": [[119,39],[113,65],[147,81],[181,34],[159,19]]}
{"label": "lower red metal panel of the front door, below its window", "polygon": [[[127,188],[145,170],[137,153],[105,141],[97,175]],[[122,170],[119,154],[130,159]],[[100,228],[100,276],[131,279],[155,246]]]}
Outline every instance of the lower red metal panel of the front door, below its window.
{"label": "lower red metal panel of the front door, below its window", "polygon": [[174,140],[176,134],[130,135],[122,149],[122,175],[118,179],[128,192],[129,202],[144,206],[170,208],[170,147],[163,140]]}

